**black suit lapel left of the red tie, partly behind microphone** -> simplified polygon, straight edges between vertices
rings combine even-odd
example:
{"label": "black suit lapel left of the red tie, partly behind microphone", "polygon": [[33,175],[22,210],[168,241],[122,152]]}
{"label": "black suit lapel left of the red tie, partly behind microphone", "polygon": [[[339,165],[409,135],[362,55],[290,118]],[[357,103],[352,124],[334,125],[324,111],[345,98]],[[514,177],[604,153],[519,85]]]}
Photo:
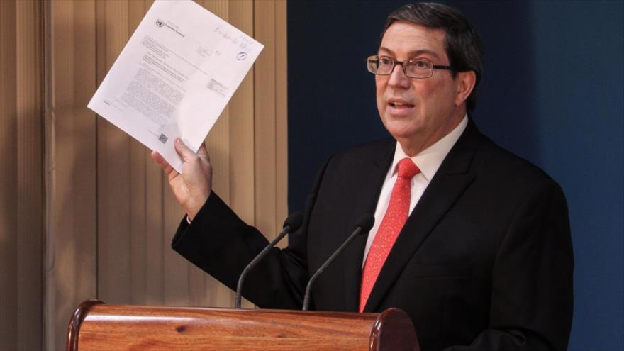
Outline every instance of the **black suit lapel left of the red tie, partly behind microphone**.
{"label": "black suit lapel left of the red tie, partly behind microphone", "polygon": [[[363,184],[356,199],[352,199],[353,208],[351,221],[357,221],[365,213],[374,214],[381,186],[384,184],[386,173],[394,157],[396,141],[384,144],[379,151],[362,161],[357,177]],[[345,233],[345,239],[350,233]],[[342,262],[345,267],[345,311],[357,311],[360,299],[360,281],[362,279],[362,259],[367,235],[360,235],[342,252]]]}

